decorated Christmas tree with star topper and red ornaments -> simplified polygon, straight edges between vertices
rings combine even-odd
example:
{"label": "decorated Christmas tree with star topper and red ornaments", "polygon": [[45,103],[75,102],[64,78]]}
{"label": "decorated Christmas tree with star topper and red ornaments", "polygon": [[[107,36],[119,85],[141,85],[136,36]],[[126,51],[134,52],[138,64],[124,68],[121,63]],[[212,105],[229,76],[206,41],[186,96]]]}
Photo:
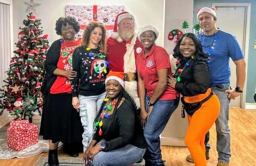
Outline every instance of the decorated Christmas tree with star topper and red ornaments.
{"label": "decorated Christmas tree with star topper and red ornaments", "polygon": [[41,82],[45,75],[44,62],[49,49],[48,35],[42,36],[41,20],[29,13],[20,27],[17,50],[13,51],[7,79],[0,89],[0,115],[4,109],[15,117],[30,119],[33,113],[43,108]]}

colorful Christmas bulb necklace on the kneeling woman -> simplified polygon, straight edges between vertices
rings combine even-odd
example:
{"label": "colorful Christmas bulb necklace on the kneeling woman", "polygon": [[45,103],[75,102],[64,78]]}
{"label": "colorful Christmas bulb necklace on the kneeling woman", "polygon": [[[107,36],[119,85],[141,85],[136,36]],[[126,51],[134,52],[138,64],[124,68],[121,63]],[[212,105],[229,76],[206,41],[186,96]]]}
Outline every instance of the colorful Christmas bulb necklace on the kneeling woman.
{"label": "colorful Christmas bulb necklace on the kneeling woman", "polygon": [[94,127],[100,127],[99,135],[102,135],[101,126],[103,125],[103,119],[108,119],[107,111],[112,111],[113,106],[116,106],[117,100],[114,99],[113,101],[110,101],[109,98],[104,98],[104,101],[107,102],[106,105],[103,107],[100,117],[98,118],[98,121],[94,122]]}

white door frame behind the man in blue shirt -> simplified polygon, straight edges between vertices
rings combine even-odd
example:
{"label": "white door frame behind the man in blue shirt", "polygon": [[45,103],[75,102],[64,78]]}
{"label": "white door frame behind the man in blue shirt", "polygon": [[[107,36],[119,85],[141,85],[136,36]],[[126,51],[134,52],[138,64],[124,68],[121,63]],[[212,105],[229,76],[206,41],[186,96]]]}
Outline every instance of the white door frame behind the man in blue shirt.
{"label": "white door frame behind the man in blue shirt", "polygon": [[[248,64],[248,53],[249,53],[249,36],[250,36],[250,15],[251,15],[251,3],[213,3],[212,7],[218,8],[218,7],[245,7],[246,9],[246,18],[245,23],[245,36],[244,36],[244,47],[243,53],[244,53],[244,60],[246,64]],[[247,66],[245,68],[245,71],[247,73]],[[245,108],[245,102],[246,102],[246,85],[247,85],[247,74],[245,75],[245,82],[244,82],[244,92],[241,95],[240,100],[240,107]]]}

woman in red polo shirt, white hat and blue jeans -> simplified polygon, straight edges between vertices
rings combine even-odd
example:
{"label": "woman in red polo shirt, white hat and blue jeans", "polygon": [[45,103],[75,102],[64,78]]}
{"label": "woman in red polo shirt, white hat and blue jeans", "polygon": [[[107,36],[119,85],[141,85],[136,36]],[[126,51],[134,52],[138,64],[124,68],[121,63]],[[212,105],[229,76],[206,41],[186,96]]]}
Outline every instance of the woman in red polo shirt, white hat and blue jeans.
{"label": "woman in red polo shirt, white hat and blue jeans", "polygon": [[144,136],[148,144],[144,159],[146,165],[162,166],[159,135],[171,114],[177,108],[179,94],[167,85],[171,74],[169,55],[155,45],[158,31],[148,25],[141,28],[138,39],[144,47],[136,60],[138,91],[140,96],[140,118],[145,125]]}

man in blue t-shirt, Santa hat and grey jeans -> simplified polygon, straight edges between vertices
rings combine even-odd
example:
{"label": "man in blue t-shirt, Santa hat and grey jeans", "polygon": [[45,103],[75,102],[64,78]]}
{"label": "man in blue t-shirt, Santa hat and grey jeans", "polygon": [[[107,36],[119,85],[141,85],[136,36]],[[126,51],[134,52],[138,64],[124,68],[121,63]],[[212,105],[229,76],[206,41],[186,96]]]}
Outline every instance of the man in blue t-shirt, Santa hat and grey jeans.
{"label": "man in blue t-shirt, Santa hat and grey jeans", "polygon": [[[218,96],[220,113],[216,119],[217,133],[217,166],[229,166],[230,130],[229,130],[229,103],[243,92],[245,81],[245,61],[237,39],[230,33],[216,27],[217,16],[213,8],[198,9],[197,18],[203,33],[198,35],[205,53],[209,55],[210,86]],[[229,58],[236,65],[236,88],[230,88]],[[206,157],[209,159],[209,133],[205,137]],[[187,160],[193,162],[191,155]]]}

